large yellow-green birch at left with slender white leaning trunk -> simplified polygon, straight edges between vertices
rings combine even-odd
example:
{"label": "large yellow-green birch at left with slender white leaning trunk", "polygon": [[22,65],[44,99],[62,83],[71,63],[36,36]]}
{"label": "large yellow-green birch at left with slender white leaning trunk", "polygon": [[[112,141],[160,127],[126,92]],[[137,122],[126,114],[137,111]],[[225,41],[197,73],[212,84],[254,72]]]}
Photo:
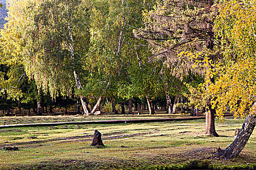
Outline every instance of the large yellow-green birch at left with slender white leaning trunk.
{"label": "large yellow-green birch at left with slender white leaning trunk", "polygon": [[[53,97],[71,92],[74,78],[78,90],[86,83],[78,73],[89,47],[87,6],[81,0],[9,1],[8,22],[1,32],[3,51],[10,56],[6,59],[21,61],[38,89],[49,90]],[[93,114],[82,95],[80,100],[84,113]]]}

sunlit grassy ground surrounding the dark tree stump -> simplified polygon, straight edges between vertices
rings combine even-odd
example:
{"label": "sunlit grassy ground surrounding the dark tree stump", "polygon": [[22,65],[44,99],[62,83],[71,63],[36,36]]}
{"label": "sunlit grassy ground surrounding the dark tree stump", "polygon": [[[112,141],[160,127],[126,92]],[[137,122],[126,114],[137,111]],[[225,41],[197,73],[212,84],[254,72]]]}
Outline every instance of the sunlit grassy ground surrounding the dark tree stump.
{"label": "sunlit grassy ground surrounding the dark tree stump", "polygon": [[[130,118],[99,116],[88,119],[127,117]],[[136,117],[141,119],[141,116]],[[143,115],[145,119],[154,117]],[[0,125],[81,119],[85,118],[2,117]],[[223,122],[217,120],[220,137],[204,135],[204,121],[4,128],[0,129],[0,170],[256,169],[255,132],[238,157],[231,160],[213,158],[218,147],[224,149],[233,142],[235,129],[240,128],[244,120],[233,117],[226,117]],[[95,129],[102,134],[105,147],[90,146]],[[4,147],[18,147],[18,150],[2,150]]]}

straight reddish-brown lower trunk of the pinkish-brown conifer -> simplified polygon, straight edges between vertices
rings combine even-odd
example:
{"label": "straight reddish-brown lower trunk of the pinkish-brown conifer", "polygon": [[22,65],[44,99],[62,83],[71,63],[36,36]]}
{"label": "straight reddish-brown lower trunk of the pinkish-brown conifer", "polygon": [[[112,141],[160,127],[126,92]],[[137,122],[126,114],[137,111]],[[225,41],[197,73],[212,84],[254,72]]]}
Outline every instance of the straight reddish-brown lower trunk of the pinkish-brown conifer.
{"label": "straight reddish-brown lower trunk of the pinkish-brown conifer", "polygon": [[207,103],[206,117],[205,117],[205,134],[218,137],[215,131],[215,109],[212,109],[211,101]]}

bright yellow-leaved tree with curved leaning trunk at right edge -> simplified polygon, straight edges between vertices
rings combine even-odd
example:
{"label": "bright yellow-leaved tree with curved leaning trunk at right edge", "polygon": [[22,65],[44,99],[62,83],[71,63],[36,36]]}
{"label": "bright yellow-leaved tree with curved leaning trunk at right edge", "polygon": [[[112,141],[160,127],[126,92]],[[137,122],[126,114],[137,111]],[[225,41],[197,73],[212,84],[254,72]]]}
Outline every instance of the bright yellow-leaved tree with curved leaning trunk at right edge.
{"label": "bright yellow-leaved tree with curved leaning trunk at right edge", "polygon": [[[256,0],[223,0],[219,4],[215,32],[221,39],[224,59],[212,74],[217,81],[210,86],[213,106],[223,119],[230,109],[235,118],[246,118],[234,142],[217,153],[218,158],[236,157],[245,147],[256,124]],[[228,106],[228,107],[227,107]]]}

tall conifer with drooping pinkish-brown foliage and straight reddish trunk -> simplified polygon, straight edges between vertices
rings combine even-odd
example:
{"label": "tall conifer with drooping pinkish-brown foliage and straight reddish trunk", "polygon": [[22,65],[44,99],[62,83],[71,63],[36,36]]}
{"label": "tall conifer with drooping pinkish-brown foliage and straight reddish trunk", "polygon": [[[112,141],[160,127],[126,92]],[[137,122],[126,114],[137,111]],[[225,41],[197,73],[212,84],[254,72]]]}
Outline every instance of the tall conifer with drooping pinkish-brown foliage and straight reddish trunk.
{"label": "tall conifer with drooping pinkish-brown foliage and straight reddish trunk", "polygon": [[[208,73],[213,62],[218,57],[215,49],[213,21],[216,8],[213,0],[163,0],[158,1],[156,8],[145,13],[145,28],[135,31],[138,38],[149,42],[156,59],[164,60],[175,70],[175,76],[183,77],[189,70],[205,73],[206,86],[214,79]],[[187,51],[197,54],[196,59],[191,55],[181,53]],[[198,55],[200,54],[200,55]],[[205,60],[205,54],[209,60]],[[204,60],[202,60],[204,58]],[[193,65],[202,60],[198,69]],[[215,130],[215,109],[211,100],[207,101],[206,134],[218,136]]]}

